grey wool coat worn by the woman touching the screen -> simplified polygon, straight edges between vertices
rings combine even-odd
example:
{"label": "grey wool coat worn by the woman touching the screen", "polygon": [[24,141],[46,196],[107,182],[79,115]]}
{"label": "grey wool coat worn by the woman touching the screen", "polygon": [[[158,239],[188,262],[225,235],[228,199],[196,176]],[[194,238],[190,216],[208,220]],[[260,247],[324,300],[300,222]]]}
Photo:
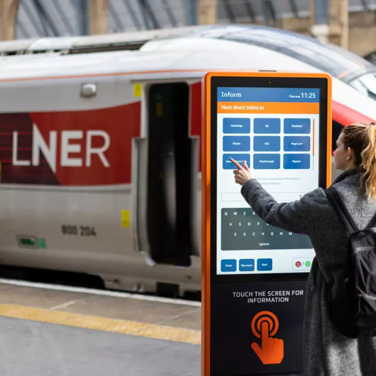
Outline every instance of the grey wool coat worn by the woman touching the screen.
{"label": "grey wool coat worn by the woman touching the screen", "polygon": [[[361,170],[342,173],[333,186],[360,229],[373,222],[376,205],[360,188]],[[255,179],[241,193],[253,210],[268,224],[310,237],[316,256],[307,282],[303,328],[304,376],[376,375],[376,337],[349,339],[337,332],[327,314],[325,281],[338,287],[339,269],[344,265],[348,233],[323,189],[317,188],[300,200],[278,203]],[[283,252],[283,251],[281,251]]]}

